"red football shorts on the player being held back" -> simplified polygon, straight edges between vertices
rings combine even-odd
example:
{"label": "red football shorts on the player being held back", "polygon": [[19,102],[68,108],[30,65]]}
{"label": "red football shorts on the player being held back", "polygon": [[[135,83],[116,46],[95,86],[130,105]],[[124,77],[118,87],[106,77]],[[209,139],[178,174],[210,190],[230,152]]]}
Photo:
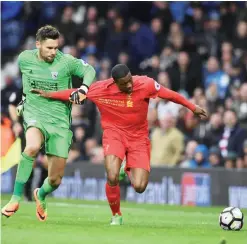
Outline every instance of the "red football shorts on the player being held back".
{"label": "red football shorts on the player being held back", "polygon": [[124,160],[126,170],[142,168],[150,172],[150,141],[146,138],[131,139],[123,132],[106,129],[103,134],[104,155],[115,155]]}

